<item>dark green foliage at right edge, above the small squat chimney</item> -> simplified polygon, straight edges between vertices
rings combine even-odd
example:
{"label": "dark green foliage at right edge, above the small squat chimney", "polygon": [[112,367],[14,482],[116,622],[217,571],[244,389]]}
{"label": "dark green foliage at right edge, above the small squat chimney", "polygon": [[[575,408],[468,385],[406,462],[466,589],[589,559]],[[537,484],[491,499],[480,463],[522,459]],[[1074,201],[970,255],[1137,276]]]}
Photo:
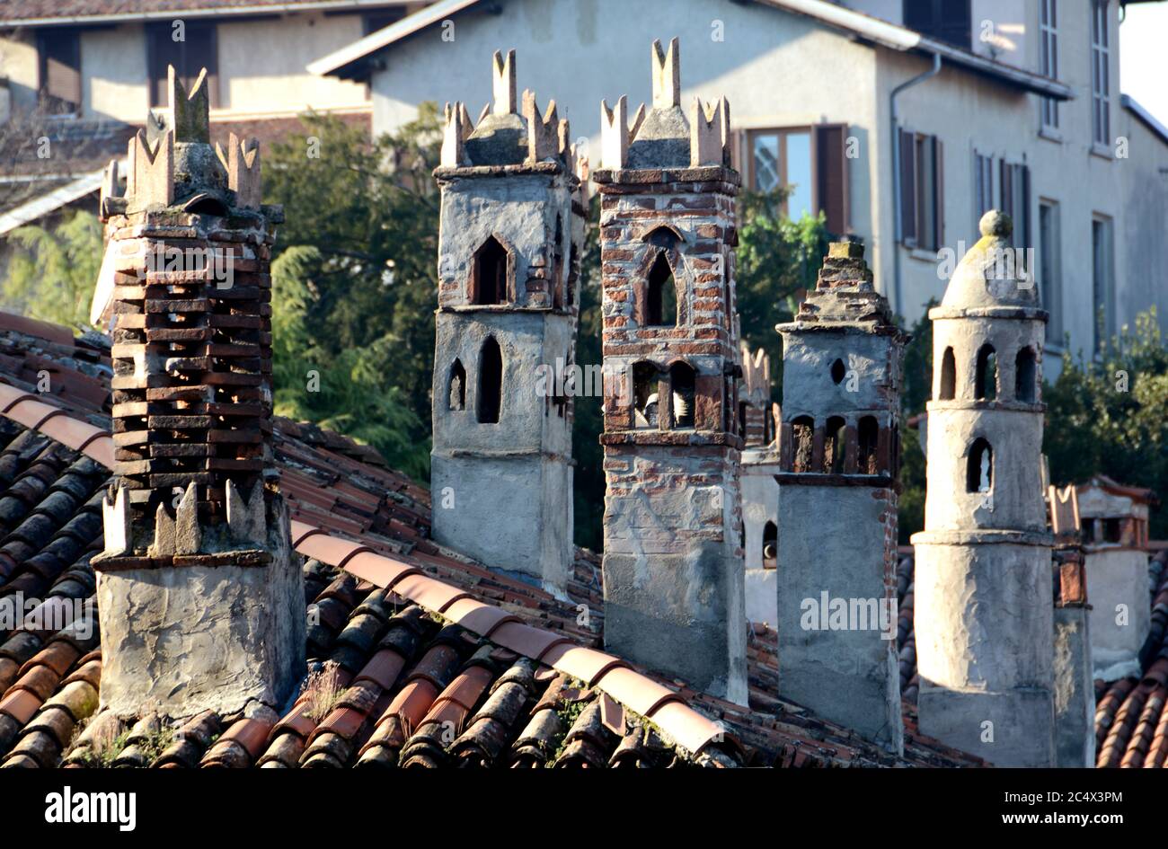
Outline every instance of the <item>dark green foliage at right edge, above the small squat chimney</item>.
{"label": "dark green foliage at right edge, above the small squat chimney", "polygon": [[[1063,370],[1043,388],[1043,451],[1056,483],[1082,483],[1101,472],[1157,490],[1168,481],[1168,348],[1155,308],[1135,316],[1098,357],[1063,355]],[[1150,517],[1149,535],[1168,537],[1168,509]]]}

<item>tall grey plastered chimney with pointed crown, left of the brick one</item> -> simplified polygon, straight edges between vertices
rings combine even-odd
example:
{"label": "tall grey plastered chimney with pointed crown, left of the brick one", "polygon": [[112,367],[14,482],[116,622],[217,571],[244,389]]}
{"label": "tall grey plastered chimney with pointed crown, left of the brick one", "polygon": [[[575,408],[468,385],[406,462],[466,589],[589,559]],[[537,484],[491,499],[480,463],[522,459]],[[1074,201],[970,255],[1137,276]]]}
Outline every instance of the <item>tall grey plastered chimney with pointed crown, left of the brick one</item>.
{"label": "tall grey plastered chimney with pointed crown, left of the brick one", "polygon": [[434,171],[433,536],[563,594],[586,178],[555,102],[541,114],[531,92],[516,100],[515,51],[496,53],[493,71],[477,126],[447,105]]}

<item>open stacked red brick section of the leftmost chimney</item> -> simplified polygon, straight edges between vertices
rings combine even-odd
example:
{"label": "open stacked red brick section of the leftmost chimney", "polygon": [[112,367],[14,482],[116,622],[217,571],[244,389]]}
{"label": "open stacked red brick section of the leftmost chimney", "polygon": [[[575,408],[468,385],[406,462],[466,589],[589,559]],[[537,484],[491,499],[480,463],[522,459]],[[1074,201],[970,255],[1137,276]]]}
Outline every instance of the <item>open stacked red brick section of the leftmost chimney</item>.
{"label": "open stacked red brick section of the leftmost chimney", "polygon": [[209,221],[215,224],[145,213],[107,224],[121,259],[114,471],[128,490],[135,530],[152,526],[158,504],[173,507],[175,488],[192,482],[200,520],[218,524],[227,517],[227,481],[249,494],[271,466],[266,270],[274,234],[260,216]]}

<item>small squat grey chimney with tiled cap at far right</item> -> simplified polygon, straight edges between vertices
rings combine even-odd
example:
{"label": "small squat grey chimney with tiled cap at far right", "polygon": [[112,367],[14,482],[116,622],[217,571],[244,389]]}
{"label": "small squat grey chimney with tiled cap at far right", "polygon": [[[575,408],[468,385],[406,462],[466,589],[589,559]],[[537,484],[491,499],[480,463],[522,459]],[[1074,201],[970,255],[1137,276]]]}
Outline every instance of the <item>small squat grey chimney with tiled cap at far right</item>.
{"label": "small squat grey chimney with tiled cap at far right", "polygon": [[1077,492],[1094,675],[1104,681],[1139,675],[1140,649],[1152,627],[1147,542],[1155,494],[1101,474]]}

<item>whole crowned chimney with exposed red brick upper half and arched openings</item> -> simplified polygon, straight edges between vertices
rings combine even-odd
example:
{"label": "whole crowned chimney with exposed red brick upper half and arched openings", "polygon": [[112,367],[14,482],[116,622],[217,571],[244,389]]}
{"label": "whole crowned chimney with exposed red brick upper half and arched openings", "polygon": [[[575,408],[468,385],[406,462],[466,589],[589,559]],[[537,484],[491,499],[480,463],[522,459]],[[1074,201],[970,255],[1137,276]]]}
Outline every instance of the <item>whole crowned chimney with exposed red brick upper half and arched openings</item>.
{"label": "whole crowned chimney with exposed red brick upper half and arched openings", "polygon": [[654,42],[653,107],[602,104],[605,642],[746,703],[729,105],[681,109]]}

